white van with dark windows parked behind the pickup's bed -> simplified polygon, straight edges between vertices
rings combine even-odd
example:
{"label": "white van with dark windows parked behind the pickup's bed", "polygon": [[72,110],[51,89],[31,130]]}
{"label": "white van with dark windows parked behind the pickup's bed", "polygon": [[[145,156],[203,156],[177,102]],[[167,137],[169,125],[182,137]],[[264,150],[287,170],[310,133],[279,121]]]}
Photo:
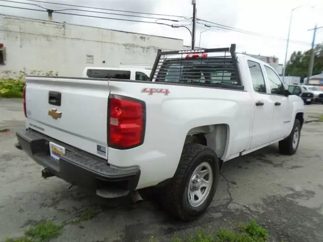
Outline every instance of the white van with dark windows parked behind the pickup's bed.
{"label": "white van with dark windows parked behind the pickup's bed", "polygon": [[151,70],[133,68],[86,67],[83,77],[148,81]]}

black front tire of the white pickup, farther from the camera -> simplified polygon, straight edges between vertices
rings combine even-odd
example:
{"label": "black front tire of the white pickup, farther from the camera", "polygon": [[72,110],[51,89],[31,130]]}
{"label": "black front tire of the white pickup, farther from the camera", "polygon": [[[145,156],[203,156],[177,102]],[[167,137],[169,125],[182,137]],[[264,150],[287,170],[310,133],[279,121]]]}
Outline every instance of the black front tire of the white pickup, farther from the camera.
{"label": "black front tire of the white pickup, farther from the camera", "polygon": [[[298,129],[299,133],[298,133],[297,145],[294,146],[293,137],[296,129]],[[279,152],[284,155],[295,154],[299,145],[300,135],[301,135],[301,122],[299,119],[296,118],[290,135],[286,139],[279,142]]]}

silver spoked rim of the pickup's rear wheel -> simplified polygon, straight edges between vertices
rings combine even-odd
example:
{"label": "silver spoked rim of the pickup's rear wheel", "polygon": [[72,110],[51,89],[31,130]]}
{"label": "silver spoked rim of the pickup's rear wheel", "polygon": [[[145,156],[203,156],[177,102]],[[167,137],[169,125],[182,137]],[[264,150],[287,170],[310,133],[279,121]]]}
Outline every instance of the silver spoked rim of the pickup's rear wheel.
{"label": "silver spoked rim of the pickup's rear wheel", "polygon": [[188,202],[192,207],[200,206],[208,197],[213,184],[212,167],[208,162],[199,164],[193,171],[187,188]]}

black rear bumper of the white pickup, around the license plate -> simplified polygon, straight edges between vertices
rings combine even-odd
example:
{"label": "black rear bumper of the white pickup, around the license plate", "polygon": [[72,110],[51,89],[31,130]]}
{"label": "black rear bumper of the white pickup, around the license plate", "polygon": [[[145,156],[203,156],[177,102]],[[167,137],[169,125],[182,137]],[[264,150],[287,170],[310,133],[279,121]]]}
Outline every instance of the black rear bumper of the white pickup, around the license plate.
{"label": "black rear bumper of the white pickup, around the license plate", "polygon": [[[68,183],[91,190],[116,188],[133,191],[138,185],[139,167],[116,168],[92,154],[53,140],[31,129],[16,133],[18,142],[33,160]],[[50,157],[49,141],[65,147],[60,159]]]}

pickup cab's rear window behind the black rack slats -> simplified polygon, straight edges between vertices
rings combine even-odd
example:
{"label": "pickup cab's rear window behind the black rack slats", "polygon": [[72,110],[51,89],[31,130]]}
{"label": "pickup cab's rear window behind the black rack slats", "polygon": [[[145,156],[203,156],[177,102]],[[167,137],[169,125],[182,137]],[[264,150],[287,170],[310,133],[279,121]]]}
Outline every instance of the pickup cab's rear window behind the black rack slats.
{"label": "pickup cab's rear window behind the black rack slats", "polygon": [[226,61],[219,58],[169,59],[161,65],[156,82],[238,85],[232,64]]}

